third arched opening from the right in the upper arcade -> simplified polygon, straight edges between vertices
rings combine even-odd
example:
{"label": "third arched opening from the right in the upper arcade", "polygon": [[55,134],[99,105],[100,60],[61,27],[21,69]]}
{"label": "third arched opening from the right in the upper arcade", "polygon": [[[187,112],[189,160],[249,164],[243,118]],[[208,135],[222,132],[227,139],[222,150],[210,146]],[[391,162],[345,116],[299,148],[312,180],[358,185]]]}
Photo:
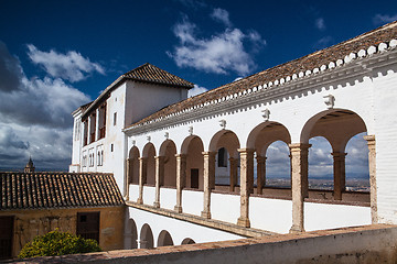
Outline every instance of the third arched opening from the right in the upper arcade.
{"label": "third arched opening from the right in the upper arcade", "polygon": [[223,191],[237,191],[238,164],[240,147],[237,135],[229,130],[217,132],[210,143],[210,151],[215,155],[215,188]]}

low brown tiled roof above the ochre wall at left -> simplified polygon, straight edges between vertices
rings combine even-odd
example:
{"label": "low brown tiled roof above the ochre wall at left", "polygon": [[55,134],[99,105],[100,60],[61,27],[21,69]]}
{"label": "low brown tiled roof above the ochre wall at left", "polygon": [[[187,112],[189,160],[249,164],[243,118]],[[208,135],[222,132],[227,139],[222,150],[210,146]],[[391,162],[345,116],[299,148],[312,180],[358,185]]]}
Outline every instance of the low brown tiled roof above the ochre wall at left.
{"label": "low brown tiled roof above the ochre wall at left", "polygon": [[112,174],[0,173],[0,210],[121,206]]}

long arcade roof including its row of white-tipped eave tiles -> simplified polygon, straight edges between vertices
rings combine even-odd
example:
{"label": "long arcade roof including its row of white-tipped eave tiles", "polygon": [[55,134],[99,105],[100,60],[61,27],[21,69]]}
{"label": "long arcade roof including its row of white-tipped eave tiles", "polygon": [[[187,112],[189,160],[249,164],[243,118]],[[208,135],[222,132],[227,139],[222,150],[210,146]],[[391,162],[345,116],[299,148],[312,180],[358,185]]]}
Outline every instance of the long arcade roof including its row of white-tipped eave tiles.
{"label": "long arcade roof including its row of white-tipped eave tiles", "polygon": [[[378,37],[376,34],[378,34]],[[364,58],[375,53],[383,53],[388,48],[393,50],[396,46],[397,21],[394,21],[324,50],[313,52],[303,57],[273,66],[243,79],[223,85],[197,96],[190,97],[183,101],[170,105],[169,107],[165,107],[158,112],[141,119],[126,129],[128,130],[129,128],[158,122],[179,116],[180,113],[186,111],[195,110],[196,108],[203,108],[208,105],[235,99],[237,97],[250,92],[256,92],[261,89],[277,87],[292,80],[304,78],[312,74],[318,74],[320,72],[333,69],[344,64],[348,64],[353,59]],[[331,53],[331,55],[329,53]],[[315,58],[321,59],[321,63],[316,62]],[[311,59],[314,62],[311,62]],[[277,70],[282,73],[273,73]]]}

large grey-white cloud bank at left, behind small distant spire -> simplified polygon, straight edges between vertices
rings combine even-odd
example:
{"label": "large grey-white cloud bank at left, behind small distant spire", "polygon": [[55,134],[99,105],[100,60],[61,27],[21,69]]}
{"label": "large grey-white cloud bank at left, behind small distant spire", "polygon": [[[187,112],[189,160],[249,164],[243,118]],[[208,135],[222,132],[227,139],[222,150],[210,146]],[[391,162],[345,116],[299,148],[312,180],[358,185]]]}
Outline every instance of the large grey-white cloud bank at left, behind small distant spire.
{"label": "large grey-white cloud bank at left, behind small distant spire", "polygon": [[0,67],[0,76],[17,76],[18,81],[10,84],[18,87],[0,89],[0,166],[22,169],[32,155],[39,169],[66,169],[72,152],[71,112],[89,97],[60,78],[28,79],[19,59],[4,51],[0,65],[6,59],[12,65]]}

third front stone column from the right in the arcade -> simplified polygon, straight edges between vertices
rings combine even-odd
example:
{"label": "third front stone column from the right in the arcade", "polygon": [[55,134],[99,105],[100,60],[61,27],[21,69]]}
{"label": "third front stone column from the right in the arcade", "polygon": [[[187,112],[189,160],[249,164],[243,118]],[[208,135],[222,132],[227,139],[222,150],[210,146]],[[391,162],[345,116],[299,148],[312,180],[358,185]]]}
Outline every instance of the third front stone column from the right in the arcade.
{"label": "third front stone column from the right in the arcade", "polygon": [[240,154],[240,217],[237,224],[249,228],[249,194],[254,183],[254,150],[239,148]]}

